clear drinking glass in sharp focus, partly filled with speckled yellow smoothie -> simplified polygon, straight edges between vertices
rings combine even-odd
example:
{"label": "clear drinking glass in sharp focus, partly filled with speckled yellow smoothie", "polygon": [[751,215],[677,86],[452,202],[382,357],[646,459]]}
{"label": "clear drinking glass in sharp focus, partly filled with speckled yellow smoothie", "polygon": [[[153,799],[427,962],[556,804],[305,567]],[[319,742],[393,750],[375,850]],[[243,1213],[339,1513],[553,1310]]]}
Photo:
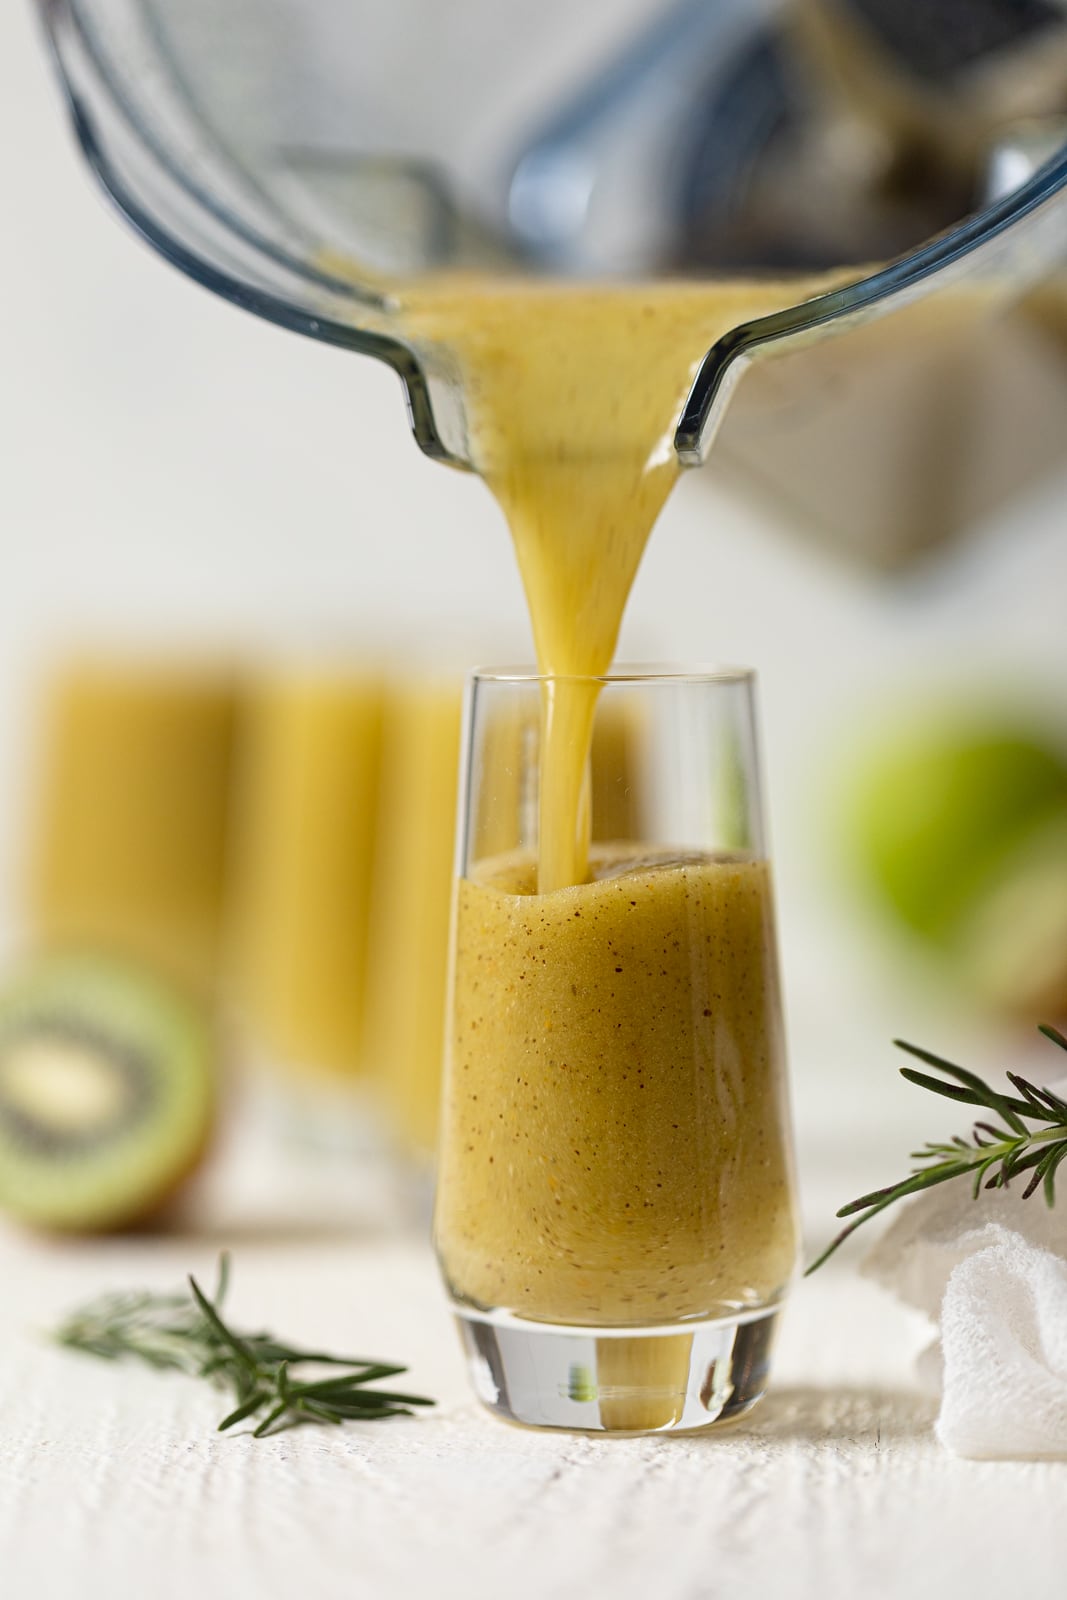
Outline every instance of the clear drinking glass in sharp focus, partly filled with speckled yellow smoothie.
{"label": "clear drinking glass in sharp focus, partly filled with speckled yellow smoothie", "polygon": [[[541,894],[561,694],[627,728],[627,835]],[[617,798],[585,786],[587,838]],[[435,1234],[501,1416],[669,1432],[763,1394],[800,1242],[749,672],[474,677]]]}

